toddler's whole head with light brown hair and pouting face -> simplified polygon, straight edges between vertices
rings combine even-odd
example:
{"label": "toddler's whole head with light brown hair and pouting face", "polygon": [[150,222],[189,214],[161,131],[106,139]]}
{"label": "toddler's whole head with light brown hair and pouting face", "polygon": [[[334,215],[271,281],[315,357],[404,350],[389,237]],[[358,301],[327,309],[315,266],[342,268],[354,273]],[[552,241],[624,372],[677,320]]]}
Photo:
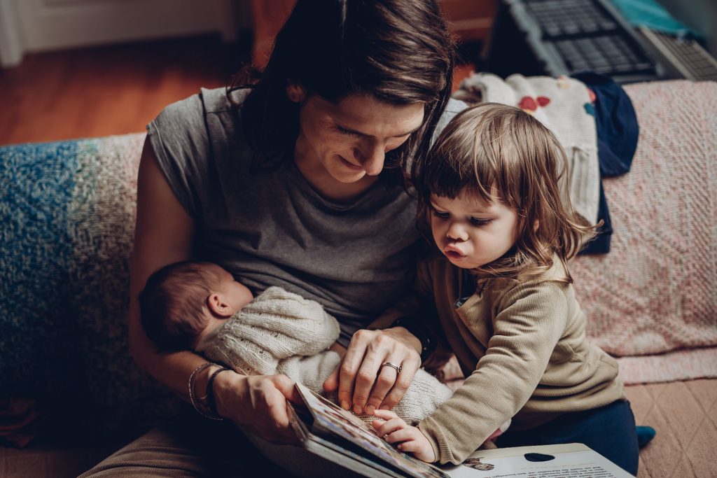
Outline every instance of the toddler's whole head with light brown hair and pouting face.
{"label": "toddler's whole head with light brown hair and pouting face", "polygon": [[538,274],[554,254],[574,256],[590,229],[570,204],[566,163],[555,135],[523,110],[470,107],[414,164],[419,224],[457,267],[481,277]]}

